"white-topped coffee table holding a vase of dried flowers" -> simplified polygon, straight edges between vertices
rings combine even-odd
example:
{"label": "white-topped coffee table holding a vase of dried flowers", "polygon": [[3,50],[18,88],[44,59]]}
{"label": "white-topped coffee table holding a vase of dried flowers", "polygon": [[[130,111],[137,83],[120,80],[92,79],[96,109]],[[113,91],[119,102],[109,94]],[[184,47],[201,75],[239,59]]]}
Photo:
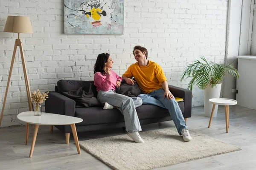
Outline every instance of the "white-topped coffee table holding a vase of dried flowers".
{"label": "white-topped coffee table holding a vase of dried flowers", "polygon": [[[27,111],[27,112],[22,112],[17,115],[17,118],[21,120],[22,122],[26,122],[28,124],[33,124],[35,125],[35,130],[34,130],[34,135],[33,135],[33,140],[31,144],[31,149],[30,149],[30,154],[29,157],[32,157],[33,150],[35,147],[35,140],[36,136],[38,133],[38,127],[39,125],[70,125],[72,129],[72,133],[74,136],[74,140],[76,143],[76,149],[78,154],[80,154],[80,147],[79,147],[79,141],[76,133],[76,123],[80,123],[83,121],[83,119],[78,118],[78,117],[73,117],[73,116],[65,116],[65,115],[60,115],[60,114],[53,114],[53,113],[44,113],[42,112],[41,116],[34,116],[33,111]],[[26,134],[28,136],[28,133]],[[27,139],[26,136],[26,139]]]}

